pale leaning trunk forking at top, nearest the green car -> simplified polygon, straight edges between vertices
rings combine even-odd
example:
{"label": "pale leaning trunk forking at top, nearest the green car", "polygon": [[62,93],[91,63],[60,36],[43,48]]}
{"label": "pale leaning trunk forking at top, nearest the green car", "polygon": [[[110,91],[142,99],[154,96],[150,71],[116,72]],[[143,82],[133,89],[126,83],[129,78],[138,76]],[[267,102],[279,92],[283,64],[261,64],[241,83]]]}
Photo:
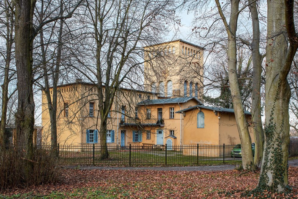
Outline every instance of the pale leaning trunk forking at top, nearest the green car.
{"label": "pale leaning trunk forking at top, nearest the green car", "polygon": [[231,95],[233,107],[235,112],[236,123],[238,127],[240,142],[241,142],[241,155],[243,169],[254,169],[254,159],[252,155],[252,140],[249,135],[249,124],[243,109],[241,92],[239,88],[238,75],[237,75],[237,48],[236,48],[236,31],[238,22],[239,1],[231,1],[231,15],[229,24],[226,21],[221,5],[218,0],[215,0],[219,14],[226,27],[228,34],[228,70],[229,70],[229,85],[231,88]]}

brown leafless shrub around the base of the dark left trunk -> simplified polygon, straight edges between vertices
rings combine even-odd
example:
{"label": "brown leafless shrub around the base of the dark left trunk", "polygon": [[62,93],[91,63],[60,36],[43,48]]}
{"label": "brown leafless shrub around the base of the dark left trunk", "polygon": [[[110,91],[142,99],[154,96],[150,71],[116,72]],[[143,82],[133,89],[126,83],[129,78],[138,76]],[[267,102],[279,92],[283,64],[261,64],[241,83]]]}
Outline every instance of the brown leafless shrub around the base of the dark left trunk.
{"label": "brown leafless shrub around the base of the dark left trunk", "polygon": [[[17,186],[55,184],[60,176],[58,160],[51,150],[34,147],[32,160],[27,160],[25,152],[16,146],[0,147],[0,190]],[[32,170],[25,177],[26,161],[32,162]]]}

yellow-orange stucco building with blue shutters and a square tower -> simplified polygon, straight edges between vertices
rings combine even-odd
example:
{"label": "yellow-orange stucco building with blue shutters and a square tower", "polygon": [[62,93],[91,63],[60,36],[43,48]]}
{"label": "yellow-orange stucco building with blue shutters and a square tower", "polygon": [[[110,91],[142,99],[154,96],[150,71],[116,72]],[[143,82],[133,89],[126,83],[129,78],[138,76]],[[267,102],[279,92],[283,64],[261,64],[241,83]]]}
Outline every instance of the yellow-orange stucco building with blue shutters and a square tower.
{"label": "yellow-orange stucco building with blue shutters and a square tower", "polygon": [[[151,59],[154,56],[150,53],[155,52],[152,48],[167,58]],[[150,52],[145,55],[144,89],[117,91],[108,117],[108,145],[240,143],[233,110],[204,106],[201,100],[203,48],[179,39],[144,49]],[[59,86],[58,91],[58,143],[100,145],[95,85],[78,79]],[[250,113],[246,114],[250,120]],[[42,125],[43,141],[49,142],[44,93]]]}

